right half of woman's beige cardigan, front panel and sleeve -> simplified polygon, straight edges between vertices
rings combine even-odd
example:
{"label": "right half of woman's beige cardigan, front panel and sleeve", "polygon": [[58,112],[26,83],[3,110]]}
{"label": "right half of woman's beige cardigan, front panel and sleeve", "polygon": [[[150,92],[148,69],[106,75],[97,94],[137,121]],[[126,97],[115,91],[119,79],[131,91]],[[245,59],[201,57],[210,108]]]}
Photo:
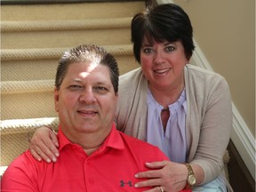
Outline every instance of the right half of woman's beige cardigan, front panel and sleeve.
{"label": "right half of woman's beige cardigan, front panel and sleeve", "polygon": [[232,130],[232,104],[224,77],[192,67],[188,72],[188,162],[204,170],[202,184],[223,171],[223,156]]}

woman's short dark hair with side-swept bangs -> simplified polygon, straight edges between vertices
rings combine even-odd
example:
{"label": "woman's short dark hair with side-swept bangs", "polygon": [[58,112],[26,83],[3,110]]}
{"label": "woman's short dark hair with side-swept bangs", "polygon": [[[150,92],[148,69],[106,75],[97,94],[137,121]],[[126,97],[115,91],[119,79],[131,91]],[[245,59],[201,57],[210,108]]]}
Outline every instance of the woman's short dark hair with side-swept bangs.
{"label": "woman's short dark hair with side-swept bangs", "polygon": [[154,41],[180,41],[189,60],[195,49],[193,28],[188,14],[177,4],[160,4],[136,14],[132,19],[132,43],[135,59],[140,63],[140,48],[144,37]]}

